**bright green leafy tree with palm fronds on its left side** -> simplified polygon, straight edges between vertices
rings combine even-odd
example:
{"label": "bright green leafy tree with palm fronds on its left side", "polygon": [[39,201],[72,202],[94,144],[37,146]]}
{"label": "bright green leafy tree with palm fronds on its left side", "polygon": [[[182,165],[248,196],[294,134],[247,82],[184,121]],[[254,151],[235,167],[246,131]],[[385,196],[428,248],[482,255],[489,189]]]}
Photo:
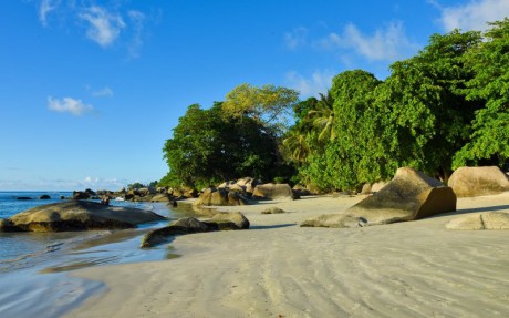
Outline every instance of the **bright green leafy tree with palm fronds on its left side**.
{"label": "bright green leafy tree with palm fronds on its left side", "polygon": [[314,125],[307,136],[312,146],[299,168],[305,183],[323,192],[357,185],[356,161],[365,151],[361,139],[366,123],[364,113],[378,83],[364,71],[343,72],[334,78],[328,94],[310,109],[308,120]]}

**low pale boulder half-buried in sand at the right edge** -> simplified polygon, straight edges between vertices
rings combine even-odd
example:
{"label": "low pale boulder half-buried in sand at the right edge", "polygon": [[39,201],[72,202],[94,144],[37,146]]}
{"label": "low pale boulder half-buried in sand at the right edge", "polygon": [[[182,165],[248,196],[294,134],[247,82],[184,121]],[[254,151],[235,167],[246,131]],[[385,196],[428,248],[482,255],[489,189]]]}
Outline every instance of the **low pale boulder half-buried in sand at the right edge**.
{"label": "low pale boulder half-buried in sand at the right edge", "polygon": [[464,215],[449,220],[448,229],[509,229],[509,213],[491,211]]}

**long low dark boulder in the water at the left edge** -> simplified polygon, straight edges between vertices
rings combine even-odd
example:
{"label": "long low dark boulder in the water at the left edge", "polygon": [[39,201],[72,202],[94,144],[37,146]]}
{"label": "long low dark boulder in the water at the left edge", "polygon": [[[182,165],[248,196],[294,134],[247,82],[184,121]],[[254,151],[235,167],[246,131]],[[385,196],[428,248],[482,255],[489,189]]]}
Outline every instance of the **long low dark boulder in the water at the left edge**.
{"label": "long low dark boulder in the water at the left edge", "polygon": [[87,201],[69,201],[33,207],[3,219],[3,232],[64,232],[115,229],[162,220],[165,217],[138,208],[108,206]]}

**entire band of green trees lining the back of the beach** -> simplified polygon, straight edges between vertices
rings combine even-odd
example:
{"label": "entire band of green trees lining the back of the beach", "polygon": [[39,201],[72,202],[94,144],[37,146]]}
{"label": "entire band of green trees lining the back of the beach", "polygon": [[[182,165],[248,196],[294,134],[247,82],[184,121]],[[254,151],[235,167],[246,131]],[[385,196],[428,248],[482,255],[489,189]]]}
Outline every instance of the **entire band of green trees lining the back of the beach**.
{"label": "entire band of green trees lining the back of the beach", "polygon": [[[294,124],[288,127],[288,112]],[[509,160],[509,19],[485,33],[434,34],[384,81],[337,74],[319,98],[241,84],[210,110],[189,106],[165,144],[166,183],[250,175],[354,189],[412,166],[447,181],[461,165]]]}

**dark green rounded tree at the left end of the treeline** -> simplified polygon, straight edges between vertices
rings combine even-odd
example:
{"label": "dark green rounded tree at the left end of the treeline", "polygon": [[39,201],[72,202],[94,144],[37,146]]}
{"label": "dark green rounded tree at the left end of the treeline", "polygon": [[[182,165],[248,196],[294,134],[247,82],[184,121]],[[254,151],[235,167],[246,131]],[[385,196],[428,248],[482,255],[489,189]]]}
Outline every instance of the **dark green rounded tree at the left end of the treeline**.
{"label": "dark green rounded tree at the left end of the treeline", "polygon": [[170,186],[210,186],[240,176],[271,178],[274,144],[264,127],[248,116],[224,116],[221,103],[210,110],[190,105],[163,148]]}

